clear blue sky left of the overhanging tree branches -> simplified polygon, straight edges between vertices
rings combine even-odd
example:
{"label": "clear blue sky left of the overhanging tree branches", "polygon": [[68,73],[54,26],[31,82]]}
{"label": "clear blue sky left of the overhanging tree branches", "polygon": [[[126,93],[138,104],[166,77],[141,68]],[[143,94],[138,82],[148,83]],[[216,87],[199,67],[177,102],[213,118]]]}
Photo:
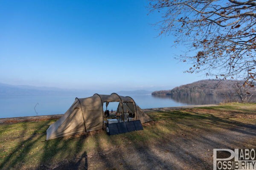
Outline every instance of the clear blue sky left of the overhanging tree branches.
{"label": "clear blue sky left of the overhanging tree branches", "polygon": [[76,89],[160,90],[205,79],[174,59],[143,0],[1,0],[0,82]]}

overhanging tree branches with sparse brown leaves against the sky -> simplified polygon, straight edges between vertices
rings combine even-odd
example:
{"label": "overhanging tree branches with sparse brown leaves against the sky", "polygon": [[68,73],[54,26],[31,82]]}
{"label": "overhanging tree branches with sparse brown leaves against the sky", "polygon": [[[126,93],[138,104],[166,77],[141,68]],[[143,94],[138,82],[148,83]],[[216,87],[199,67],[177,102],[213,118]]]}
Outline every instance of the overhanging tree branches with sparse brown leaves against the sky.
{"label": "overhanging tree branches with sparse brown leaves against the sky", "polygon": [[162,13],[160,34],[189,45],[180,56],[191,67],[216,78],[256,80],[256,0],[151,0],[151,12]]}

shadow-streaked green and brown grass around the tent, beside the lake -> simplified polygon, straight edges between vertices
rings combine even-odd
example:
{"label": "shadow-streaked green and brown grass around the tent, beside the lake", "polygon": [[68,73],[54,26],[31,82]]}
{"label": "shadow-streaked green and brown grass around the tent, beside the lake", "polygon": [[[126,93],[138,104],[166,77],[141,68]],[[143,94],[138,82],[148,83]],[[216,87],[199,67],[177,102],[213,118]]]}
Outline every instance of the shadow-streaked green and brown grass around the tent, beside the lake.
{"label": "shadow-streaked green and brown grass around the tent, beside the lake", "polygon": [[168,142],[175,136],[193,136],[195,130],[218,133],[220,128],[256,125],[256,104],[232,103],[176,111],[149,112],[152,122],[144,130],[108,136],[99,130],[87,135],[46,139],[46,130],[53,122],[20,122],[0,125],[0,169],[48,169],[52,165],[76,160],[86,154],[122,150],[133,145]]}

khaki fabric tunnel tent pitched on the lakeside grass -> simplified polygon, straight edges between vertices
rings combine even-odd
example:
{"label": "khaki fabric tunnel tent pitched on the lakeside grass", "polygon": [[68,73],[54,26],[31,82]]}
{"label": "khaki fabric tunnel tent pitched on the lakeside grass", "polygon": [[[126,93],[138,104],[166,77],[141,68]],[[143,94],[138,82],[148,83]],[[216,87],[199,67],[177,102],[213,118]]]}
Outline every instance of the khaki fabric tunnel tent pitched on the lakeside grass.
{"label": "khaki fabric tunnel tent pitched on the lakeside grass", "polygon": [[128,113],[133,113],[134,120],[140,120],[141,123],[151,121],[150,117],[129,96],[119,96],[116,93],[94,94],[87,98],[76,98],[67,112],[49,126],[46,140],[102,129],[104,127],[104,102],[106,105],[108,102],[119,102],[118,111],[121,114],[128,111]]}

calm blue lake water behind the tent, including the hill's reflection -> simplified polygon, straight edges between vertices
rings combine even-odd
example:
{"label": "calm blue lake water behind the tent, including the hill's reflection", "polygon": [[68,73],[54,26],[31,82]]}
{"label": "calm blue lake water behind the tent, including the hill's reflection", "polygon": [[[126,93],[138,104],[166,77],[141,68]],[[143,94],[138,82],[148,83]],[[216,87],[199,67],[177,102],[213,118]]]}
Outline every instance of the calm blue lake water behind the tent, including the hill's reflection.
{"label": "calm blue lake water behind the tent, including the hill's reflection", "polygon": [[[35,116],[34,107],[36,103],[36,111],[38,116],[63,114],[75,101],[76,97],[87,96],[0,96],[0,118],[19,117],[19,116]],[[129,95],[140,108],[160,108],[174,107],[184,105],[206,105],[222,102],[220,96],[151,96],[147,95]],[[118,103],[110,103],[108,110],[116,110]],[[105,108],[105,107],[104,107]]]}

